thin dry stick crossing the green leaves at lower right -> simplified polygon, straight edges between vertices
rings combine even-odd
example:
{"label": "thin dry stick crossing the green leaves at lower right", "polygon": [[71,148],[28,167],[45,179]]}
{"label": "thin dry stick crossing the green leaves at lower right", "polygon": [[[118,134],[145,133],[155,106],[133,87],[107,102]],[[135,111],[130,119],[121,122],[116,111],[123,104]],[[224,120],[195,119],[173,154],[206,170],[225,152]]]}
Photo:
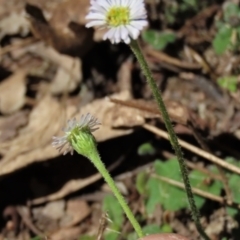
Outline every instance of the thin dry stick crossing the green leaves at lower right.
{"label": "thin dry stick crossing the green leaves at lower right", "polygon": [[[162,177],[162,176],[159,176],[157,174],[152,174],[152,176],[156,179],[159,179],[163,182],[169,183],[173,186],[179,187],[181,189],[185,189],[184,184],[181,183],[181,182],[175,181],[175,180],[170,179],[170,178]],[[216,201],[216,202],[219,202],[219,203],[222,203],[222,204],[227,204],[230,207],[235,207],[235,208],[240,209],[240,204],[233,203],[232,201],[229,201],[229,200],[226,201],[223,197],[205,192],[201,189],[194,188],[194,187],[192,188],[192,190],[193,190],[194,193],[198,194],[199,196],[211,199],[213,201]]]}

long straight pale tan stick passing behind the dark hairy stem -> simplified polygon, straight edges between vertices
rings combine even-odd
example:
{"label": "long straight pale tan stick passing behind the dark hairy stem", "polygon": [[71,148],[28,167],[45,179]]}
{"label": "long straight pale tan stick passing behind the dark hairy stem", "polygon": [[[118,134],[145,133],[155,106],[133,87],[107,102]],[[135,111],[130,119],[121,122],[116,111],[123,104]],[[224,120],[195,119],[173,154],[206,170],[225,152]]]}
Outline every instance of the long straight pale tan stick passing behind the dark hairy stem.
{"label": "long straight pale tan stick passing behind the dark hairy stem", "polygon": [[[161,137],[168,140],[167,132],[165,132],[165,131],[157,128],[157,127],[154,127],[150,124],[144,124],[143,127],[145,129],[149,130],[150,132],[153,132],[153,133],[157,134],[158,136],[161,136]],[[204,150],[202,150],[198,147],[195,147],[195,146],[191,145],[190,143],[187,143],[187,142],[185,142],[181,139],[179,139],[178,141],[179,141],[179,144],[182,147],[188,149],[189,151],[191,151],[193,153],[196,153],[197,155],[209,160],[210,162],[213,162],[213,163],[215,163],[215,164],[217,164],[217,165],[219,165],[219,166],[221,166],[225,169],[228,169],[229,171],[232,171],[232,172],[240,175],[240,168],[238,168],[238,167],[236,167],[232,164],[229,164],[229,163],[225,162],[223,159],[218,158],[218,157],[214,156],[213,154],[208,153],[208,152],[206,152],[206,151],[204,151]]]}

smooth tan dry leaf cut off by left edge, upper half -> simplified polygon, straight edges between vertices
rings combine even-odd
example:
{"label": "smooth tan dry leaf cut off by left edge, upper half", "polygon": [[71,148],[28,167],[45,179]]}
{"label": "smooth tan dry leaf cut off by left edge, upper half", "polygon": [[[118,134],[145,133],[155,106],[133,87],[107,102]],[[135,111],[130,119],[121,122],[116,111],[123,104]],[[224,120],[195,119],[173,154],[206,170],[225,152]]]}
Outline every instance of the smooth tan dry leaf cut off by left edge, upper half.
{"label": "smooth tan dry leaf cut off by left edge, upper half", "polygon": [[0,111],[13,113],[25,104],[26,71],[19,70],[0,83]]}

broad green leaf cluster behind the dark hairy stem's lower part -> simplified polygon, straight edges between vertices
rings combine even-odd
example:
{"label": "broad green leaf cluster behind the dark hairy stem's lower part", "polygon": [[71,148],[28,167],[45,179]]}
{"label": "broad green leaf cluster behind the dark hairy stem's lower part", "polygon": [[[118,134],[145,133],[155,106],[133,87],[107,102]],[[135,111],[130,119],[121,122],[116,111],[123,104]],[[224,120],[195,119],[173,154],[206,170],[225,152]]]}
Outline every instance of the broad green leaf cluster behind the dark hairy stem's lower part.
{"label": "broad green leaf cluster behind the dark hairy stem's lower part", "polygon": [[[157,175],[161,177],[167,177],[182,182],[176,159],[171,159],[166,162],[157,160],[154,163],[154,169]],[[213,168],[212,171],[214,172],[217,170]],[[219,195],[221,192],[222,183],[219,181],[213,181],[208,185],[205,182],[208,176],[200,171],[193,170],[189,174],[189,178],[192,187],[196,187],[215,195]],[[145,206],[149,215],[154,212],[158,204],[161,204],[165,210],[170,211],[177,211],[188,207],[187,198],[182,189],[154,177],[148,178],[145,183],[144,179],[147,178],[144,177],[142,173],[137,176],[137,189],[141,194],[145,193]],[[142,185],[140,185],[140,183]],[[198,208],[201,208],[206,201],[205,198],[197,195],[194,196],[194,199]]]}

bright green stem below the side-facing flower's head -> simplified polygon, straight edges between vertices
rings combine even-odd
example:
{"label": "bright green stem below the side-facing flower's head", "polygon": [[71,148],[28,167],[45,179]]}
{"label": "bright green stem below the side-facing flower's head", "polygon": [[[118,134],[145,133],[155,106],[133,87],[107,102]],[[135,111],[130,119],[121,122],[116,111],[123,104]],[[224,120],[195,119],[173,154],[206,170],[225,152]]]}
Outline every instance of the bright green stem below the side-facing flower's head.
{"label": "bright green stem below the side-facing flower's head", "polygon": [[111,188],[112,192],[114,193],[115,197],[117,198],[119,204],[123,208],[125,214],[127,215],[129,221],[131,222],[133,228],[135,229],[136,233],[138,234],[139,238],[144,236],[141,226],[139,225],[138,221],[134,217],[131,209],[129,208],[126,200],[124,199],[123,195],[120,193],[118,187],[116,186],[115,182],[113,181],[112,177],[110,176],[109,172],[107,171],[105,165],[103,164],[97,149],[96,151],[92,151],[91,154],[88,156],[89,160],[95,165],[97,170],[102,174],[106,183]]}

